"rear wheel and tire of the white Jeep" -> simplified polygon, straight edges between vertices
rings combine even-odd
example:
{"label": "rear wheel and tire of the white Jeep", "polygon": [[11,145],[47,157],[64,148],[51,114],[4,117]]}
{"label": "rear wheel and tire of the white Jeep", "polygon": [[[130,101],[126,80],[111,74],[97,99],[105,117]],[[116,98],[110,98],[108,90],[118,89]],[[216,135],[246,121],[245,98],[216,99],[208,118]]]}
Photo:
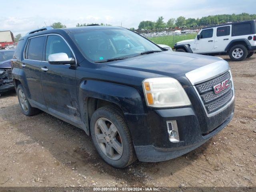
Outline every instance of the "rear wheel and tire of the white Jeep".
{"label": "rear wheel and tire of the white Jeep", "polygon": [[242,61],[246,58],[248,51],[243,45],[235,45],[229,51],[229,57],[233,61]]}

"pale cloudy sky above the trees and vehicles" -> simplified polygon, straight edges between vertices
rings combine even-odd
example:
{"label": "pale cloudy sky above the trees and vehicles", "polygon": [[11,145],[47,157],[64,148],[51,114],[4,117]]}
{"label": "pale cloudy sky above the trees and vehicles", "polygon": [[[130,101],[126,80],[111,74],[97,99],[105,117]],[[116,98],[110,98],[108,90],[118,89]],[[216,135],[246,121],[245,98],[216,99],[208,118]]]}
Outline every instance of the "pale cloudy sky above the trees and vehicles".
{"label": "pale cloudy sky above the trees and vehicles", "polygon": [[215,14],[255,14],[255,0],[1,0],[0,30],[14,36],[62,22],[67,27],[77,23],[104,23],[138,28],[140,21],[156,21],[163,16],[201,18]]}

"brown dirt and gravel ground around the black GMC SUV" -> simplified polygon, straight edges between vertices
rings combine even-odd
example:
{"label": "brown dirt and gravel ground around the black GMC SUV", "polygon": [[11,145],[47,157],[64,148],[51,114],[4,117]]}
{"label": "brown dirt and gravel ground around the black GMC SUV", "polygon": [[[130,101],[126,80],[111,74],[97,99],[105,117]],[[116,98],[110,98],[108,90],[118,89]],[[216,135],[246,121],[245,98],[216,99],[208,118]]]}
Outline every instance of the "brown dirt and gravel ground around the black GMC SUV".
{"label": "brown dirt and gravel ground around the black GMC SUV", "polygon": [[84,131],[44,112],[27,117],[15,92],[0,97],[0,186],[256,186],[256,55],[230,64],[230,124],[179,158],[106,164]]}

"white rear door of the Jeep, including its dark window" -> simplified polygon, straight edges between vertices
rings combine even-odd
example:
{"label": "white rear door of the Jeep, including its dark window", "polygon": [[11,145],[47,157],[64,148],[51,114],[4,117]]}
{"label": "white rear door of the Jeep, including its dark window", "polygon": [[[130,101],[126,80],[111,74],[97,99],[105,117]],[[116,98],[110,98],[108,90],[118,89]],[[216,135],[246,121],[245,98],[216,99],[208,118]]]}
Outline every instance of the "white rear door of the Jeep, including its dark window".
{"label": "white rear door of the Jeep, including its dark window", "polygon": [[214,42],[214,52],[224,52],[226,46],[231,41],[231,25],[221,26],[216,29]]}

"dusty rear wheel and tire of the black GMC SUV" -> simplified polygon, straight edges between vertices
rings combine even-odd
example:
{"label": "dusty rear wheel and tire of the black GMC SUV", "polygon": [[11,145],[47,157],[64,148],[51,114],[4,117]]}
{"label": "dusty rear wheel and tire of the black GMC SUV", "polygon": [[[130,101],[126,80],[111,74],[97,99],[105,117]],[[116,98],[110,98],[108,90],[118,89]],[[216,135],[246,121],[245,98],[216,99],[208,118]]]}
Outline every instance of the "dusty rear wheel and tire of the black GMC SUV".
{"label": "dusty rear wheel and tire of the black GMC SUV", "polygon": [[19,84],[17,87],[17,95],[18,95],[21,111],[24,115],[33,116],[40,112],[38,108],[32,107],[28,102],[28,98],[25,94],[22,84]]}

